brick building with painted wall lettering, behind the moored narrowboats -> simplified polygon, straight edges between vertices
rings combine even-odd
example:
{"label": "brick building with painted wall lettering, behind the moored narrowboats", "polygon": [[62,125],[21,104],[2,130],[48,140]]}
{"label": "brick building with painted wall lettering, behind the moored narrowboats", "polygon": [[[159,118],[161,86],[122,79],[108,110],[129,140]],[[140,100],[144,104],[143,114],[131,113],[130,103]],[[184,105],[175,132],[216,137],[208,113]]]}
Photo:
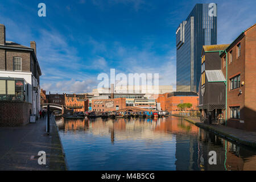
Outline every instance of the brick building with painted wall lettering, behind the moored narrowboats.
{"label": "brick building with painted wall lettering, behind the moored narrowboats", "polygon": [[103,100],[92,99],[92,111],[115,111],[125,109],[126,98],[113,98]]}

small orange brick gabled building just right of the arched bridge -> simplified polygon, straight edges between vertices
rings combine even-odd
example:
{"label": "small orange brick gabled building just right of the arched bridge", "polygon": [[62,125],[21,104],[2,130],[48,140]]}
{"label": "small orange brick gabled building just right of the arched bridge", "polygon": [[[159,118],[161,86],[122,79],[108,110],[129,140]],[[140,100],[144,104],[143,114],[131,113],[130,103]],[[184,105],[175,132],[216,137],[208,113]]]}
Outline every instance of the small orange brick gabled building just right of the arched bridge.
{"label": "small orange brick gabled building just right of the arched bridge", "polygon": [[86,94],[64,94],[65,106],[75,112],[84,112],[89,109],[89,99]]}

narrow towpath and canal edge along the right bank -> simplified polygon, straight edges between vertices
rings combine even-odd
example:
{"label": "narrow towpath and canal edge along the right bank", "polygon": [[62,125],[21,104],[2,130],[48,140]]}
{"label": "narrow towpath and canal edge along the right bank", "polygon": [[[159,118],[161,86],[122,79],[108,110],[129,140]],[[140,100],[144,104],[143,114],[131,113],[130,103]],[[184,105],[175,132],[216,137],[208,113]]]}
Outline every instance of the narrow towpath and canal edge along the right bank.
{"label": "narrow towpath and canal edge along the right bank", "polygon": [[208,125],[201,123],[200,119],[193,117],[185,117],[183,115],[172,114],[175,117],[184,118],[185,121],[193,123],[197,127],[212,131],[214,134],[219,135],[222,138],[232,140],[238,144],[256,148],[256,132],[244,131],[234,129],[232,127],[226,127],[222,125]]}

